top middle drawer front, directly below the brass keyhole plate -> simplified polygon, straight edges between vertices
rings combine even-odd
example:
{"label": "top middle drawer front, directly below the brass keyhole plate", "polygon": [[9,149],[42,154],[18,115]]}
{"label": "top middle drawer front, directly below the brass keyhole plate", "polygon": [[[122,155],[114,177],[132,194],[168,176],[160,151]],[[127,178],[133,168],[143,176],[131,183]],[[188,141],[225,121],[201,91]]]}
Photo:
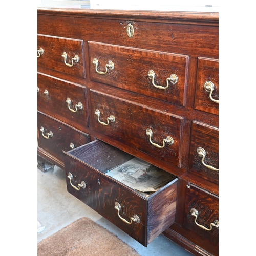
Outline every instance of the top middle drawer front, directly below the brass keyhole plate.
{"label": "top middle drawer front, directly below the brass keyhole plate", "polygon": [[[185,105],[188,56],[97,42],[88,47],[93,81]],[[109,61],[114,66],[106,69]]]}

